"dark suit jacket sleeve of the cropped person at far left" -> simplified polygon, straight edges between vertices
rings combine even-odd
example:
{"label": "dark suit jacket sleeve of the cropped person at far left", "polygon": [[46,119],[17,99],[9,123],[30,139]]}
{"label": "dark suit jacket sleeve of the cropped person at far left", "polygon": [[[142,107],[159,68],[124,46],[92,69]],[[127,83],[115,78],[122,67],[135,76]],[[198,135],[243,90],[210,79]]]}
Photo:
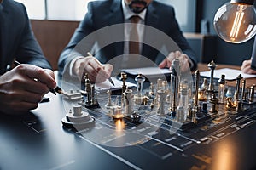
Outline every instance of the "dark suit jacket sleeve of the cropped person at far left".
{"label": "dark suit jacket sleeve of the cropped person at far left", "polygon": [[3,0],[0,4],[0,74],[16,59],[20,63],[51,68],[33,36],[23,4]]}

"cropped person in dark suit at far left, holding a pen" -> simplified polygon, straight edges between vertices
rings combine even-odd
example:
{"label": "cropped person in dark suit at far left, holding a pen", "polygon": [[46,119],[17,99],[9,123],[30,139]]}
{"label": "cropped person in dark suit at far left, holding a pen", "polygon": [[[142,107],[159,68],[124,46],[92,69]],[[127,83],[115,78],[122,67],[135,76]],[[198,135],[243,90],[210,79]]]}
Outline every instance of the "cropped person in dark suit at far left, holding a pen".
{"label": "cropped person in dark suit at far left, holding a pen", "polygon": [[[13,68],[15,59],[21,65]],[[56,86],[50,69],[24,5],[0,0],[0,112],[20,114],[37,108],[49,88]]]}

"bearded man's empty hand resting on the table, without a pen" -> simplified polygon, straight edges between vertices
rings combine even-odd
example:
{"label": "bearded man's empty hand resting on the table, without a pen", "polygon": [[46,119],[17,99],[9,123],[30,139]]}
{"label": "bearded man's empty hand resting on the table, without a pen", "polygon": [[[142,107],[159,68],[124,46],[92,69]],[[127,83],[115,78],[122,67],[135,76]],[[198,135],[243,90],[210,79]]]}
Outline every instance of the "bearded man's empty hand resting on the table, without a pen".
{"label": "bearded man's empty hand resting on the table, without a pen", "polygon": [[170,68],[171,65],[172,65],[172,61],[174,59],[179,59],[179,63],[180,63],[180,70],[182,72],[185,72],[185,71],[189,71],[190,70],[190,66],[189,66],[189,57],[187,54],[182,54],[181,52],[179,51],[176,51],[176,52],[171,52],[168,57],[166,57],[166,59],[164,59],[159,67],[162,69],[162,68],[165,68],[165,67],[168,67]]}

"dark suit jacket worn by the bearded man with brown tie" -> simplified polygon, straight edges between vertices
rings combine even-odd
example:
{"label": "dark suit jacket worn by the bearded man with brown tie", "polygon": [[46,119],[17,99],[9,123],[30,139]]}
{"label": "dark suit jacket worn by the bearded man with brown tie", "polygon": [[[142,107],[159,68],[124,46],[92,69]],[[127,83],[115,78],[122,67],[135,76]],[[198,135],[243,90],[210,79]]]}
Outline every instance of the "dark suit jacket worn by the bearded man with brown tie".
{"label": "dark suit jacket worn by the bearded man with brown tie", "polygon": [[[94,53],[97,59],[102,63],[106,63],[108,60],[123,54],[124,42],[120,41],[121,39],[124,40],[124,27],[122,23],[124,23],[124,14],[121,0],[89,3],[88,13],[85,15],[84,20],[80,22],[71,41],[61,54],[59,59],[59,71],[63,71],[64,66],[76,56],[75,54],[71,54],[73,49],[79,54],[86,56],[86,52],[90,51],[94,42],[97,42],[99,49]],[[167,6],[156,1],[150,3],[145,18],[145,25],[150,26],[150,28],[152,26],[159,32],[148,31],[148,29],[144,31],[143,56],[159,64],[160,61],[166,57],[161,54],[161,59],[159,59],[159,57],[156,59],[156,56],[159,56],[159,49],[167,42],[161,37],[161,34],[165,34],[166,37],[171,37],[172,40],[177,43],[178,48],[180,48],[184,54],[189,55],[194,63],[194,67],[191,69],[195,70],[197,63],[195,53],[183,37],[183,33],[175,19],[172,6]],[[103,31],[101,31],[101,29]],[[154,32],[155,35],[152,35],[152,32]],[[155,42],[157,42],[157,45],[153,48],[152,44]],[[170,43],[170,41],[168,42]],[[168,51],[168,54],[170,52],[171,51]]]}

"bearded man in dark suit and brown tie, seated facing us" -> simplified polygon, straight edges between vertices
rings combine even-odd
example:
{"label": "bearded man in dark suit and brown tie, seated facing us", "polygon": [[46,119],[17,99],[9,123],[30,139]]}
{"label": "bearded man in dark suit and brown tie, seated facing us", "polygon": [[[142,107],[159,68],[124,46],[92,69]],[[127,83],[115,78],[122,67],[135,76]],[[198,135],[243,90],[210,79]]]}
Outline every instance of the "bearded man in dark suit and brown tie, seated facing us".
{"label": "bearded man in dark suit and brown tie, seated facing us", "polygon": [[[150,59],[160,68],[170,67],[173,59],[180,59],[182,71],[187,71],[189,68],[195,70],[197,66],[195,54],[183,37],[172,6],[152,0],[108,0],[89,3],[88,13],[61,54],[59,71],[61,73],[69,71],[68,74],[76,75],[79,79],[84,72],[87,72],[90,80],[94,82],[96,80],[102,82],[110,77],[113,65],[101,65],[100,62],[106,64],[117,56],[129,54],[127,42],[129,28],[126,28],[124,23],[131,23],[133,15],[140,18],[138,21],[140,25],[137,25],[138,41],[141,42],[139,54]],[[109,41],[109,39],[113,40]],[[176,50],[169,51],[163,56],[160,49],[172,41],[177,43]],[[97,46],[93,46],[95,42]],[[155,42],[158,44],[155,45]],[[95,47],[97,47],[94,51],[96,58],[87,56],[86,51]],[[74,51],[75,53],[72,54]],[[135,59],[133,64],[143,63],[131,57],[119,60],[119,64],[133,59]]]}

